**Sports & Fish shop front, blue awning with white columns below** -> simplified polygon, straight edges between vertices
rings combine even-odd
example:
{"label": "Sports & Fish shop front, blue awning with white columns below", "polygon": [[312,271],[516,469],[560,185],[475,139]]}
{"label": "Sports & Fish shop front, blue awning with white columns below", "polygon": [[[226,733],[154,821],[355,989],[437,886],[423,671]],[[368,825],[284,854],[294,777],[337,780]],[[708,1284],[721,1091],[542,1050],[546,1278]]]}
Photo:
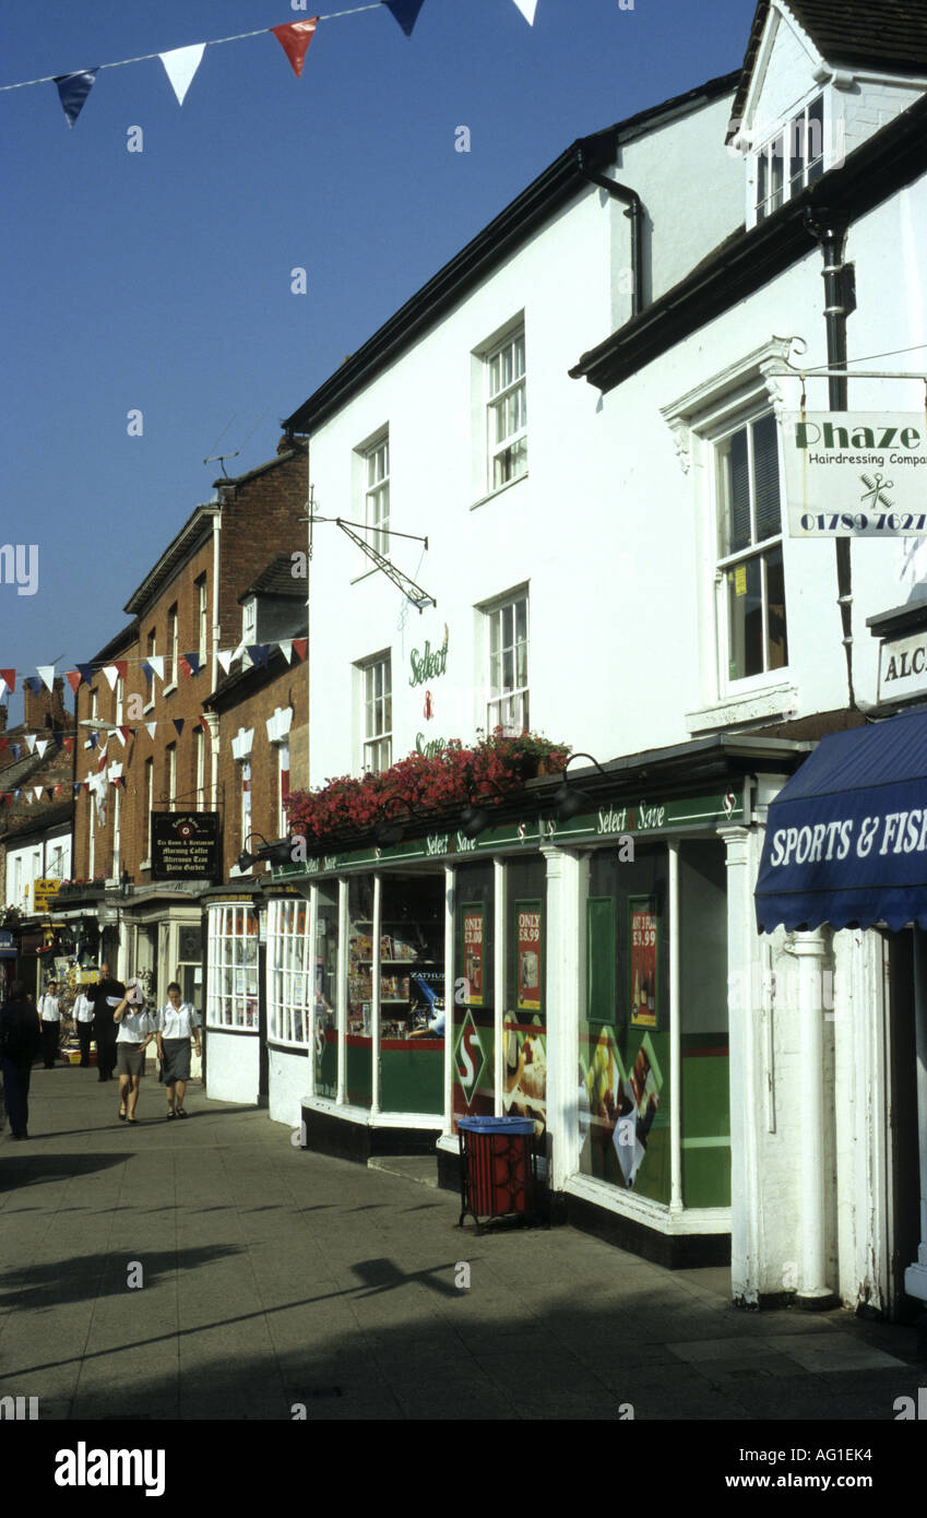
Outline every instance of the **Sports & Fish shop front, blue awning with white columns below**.
{"label": "Sports & Fish shop front, blue awning with white columns below", "polygon": [[821,741],[769,809],[756,911],[798,955],[798,1296],[922,1310],[927,710]]}

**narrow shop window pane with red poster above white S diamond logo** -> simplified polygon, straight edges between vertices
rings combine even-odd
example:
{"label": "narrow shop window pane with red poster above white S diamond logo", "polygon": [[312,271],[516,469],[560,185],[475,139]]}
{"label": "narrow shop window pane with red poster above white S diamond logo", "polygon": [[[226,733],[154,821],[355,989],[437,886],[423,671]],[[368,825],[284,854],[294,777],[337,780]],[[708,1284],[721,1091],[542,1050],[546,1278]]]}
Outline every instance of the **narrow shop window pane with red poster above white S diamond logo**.
{"label": "narrow shop window pane with red poster above white S diamond logo", "polygon": [[458,1117],[495,1116],[495,891],[492,864],[457,871],[454,1132]]}

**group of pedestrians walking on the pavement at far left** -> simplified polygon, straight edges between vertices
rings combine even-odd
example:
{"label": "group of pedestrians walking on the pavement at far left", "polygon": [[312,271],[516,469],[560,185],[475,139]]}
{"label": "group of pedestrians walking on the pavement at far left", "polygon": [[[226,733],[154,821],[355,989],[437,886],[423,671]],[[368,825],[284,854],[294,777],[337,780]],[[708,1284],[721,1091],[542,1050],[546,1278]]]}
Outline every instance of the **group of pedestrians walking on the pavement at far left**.
{"label": "group of pedestrians walking on the pavement at far left", "polygon": [[[9,997],[0,1006],[0,1072],[3,1102],[12,1138],[29,1138],[29,1082],[39,1050],[46,1070],[55,1067],[59,1049],[62,1008],[58,982],[49,981],[38,1006],[30,999],[24,981],[14,981]],[[118,1075],[120,1122],[138,1122],[140,1081],[152,1041],[158,1046],[158,1079],[167,1093],[167,1117],[187,1117],[184,1099],[190,1081],[191,1046],[202,1052],[196,1008],[182,1000],[176,981],[167,988],[167,1002],[156,1009],[146,1006],[141,982],[114,981],[109,965],[100,965],[94,985],[82,987],[73,1006],[74,1026],[80,1044],[80,1066],[90,1066],[91,1038],[97,1046],[97,1078],[111,1081]]]}

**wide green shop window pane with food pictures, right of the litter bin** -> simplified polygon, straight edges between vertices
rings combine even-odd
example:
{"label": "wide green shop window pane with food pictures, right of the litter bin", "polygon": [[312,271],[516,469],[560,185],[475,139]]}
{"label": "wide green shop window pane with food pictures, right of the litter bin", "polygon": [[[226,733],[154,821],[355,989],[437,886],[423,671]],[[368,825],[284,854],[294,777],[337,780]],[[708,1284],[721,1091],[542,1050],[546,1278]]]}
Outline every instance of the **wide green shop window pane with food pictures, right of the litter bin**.
{"label": "wide green shop window pane with food pictures, right of the litter bin", "polygon": [[669,923],[663,846],[590,859],[580,1170],[669,1204]]}

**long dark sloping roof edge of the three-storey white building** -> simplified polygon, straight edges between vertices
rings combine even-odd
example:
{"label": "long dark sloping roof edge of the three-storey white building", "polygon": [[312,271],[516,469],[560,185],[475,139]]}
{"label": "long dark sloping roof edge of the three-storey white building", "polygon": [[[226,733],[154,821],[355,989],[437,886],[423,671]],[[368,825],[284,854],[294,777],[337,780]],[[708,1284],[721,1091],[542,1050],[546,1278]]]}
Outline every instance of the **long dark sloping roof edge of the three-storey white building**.
{"label": "long dark sloping roof edge of the three-storey white building", "polygon": [[346,401],[369,384],[381,369],[401,357],[414,342],[451,311],[470,290],[485,281],[507,258],[511,258],[545,222],[575,194],[592,185],[581,162],[601,173],[614,162],[617,147],[627,135],[657,128],[666,118],[678,117],[701,105],[730,94],[737,74],[722,74],[707,83],[636,115],[625,117],[592,137],[580,137],[566,152],[545,168],[526,190],[511,200],[499,216],[445,264],[437,275],[399,308],[363,348],[350,354],[305,401],[282,422],[287,433],[313,433]]}

